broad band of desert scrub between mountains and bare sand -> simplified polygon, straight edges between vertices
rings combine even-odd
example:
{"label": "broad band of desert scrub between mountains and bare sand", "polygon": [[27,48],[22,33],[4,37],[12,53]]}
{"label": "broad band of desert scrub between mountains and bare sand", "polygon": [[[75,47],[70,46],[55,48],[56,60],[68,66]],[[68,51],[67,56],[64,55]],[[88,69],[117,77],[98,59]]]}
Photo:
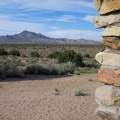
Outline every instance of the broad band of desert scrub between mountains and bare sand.
{"label": "broad band of desert scrub between mountains and bare sand", "polygon": [[103,47],[96,45],[3,44],[0,45],[0,78],[95,73],[99,64],[94,57],[101,50]]}

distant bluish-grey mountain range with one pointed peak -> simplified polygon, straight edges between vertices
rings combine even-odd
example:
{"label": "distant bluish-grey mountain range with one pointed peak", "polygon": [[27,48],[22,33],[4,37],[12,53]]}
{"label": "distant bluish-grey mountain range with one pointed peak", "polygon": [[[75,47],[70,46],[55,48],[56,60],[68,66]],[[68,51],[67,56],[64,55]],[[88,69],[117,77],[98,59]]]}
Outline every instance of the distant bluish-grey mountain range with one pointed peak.
{"label": "distant bluish-grey mountain range with one pointed peak", "polygon": [[0,36],[0,43],[39,43],[39,44],[100,44],[86,39],[50,38],[41,33],[23,31],[19,34]]}

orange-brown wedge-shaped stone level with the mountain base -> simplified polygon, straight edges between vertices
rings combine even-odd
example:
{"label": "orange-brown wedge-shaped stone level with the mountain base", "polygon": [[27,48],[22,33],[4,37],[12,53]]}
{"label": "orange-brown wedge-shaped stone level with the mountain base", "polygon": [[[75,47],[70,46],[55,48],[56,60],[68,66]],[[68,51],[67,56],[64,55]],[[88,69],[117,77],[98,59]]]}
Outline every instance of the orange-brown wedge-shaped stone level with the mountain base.
{"label": "orange-brown wedge-shaped stone level with the mountain base", "polygon": [[120,40],[104,39],[101,43],[113,49],[120,50]]}

